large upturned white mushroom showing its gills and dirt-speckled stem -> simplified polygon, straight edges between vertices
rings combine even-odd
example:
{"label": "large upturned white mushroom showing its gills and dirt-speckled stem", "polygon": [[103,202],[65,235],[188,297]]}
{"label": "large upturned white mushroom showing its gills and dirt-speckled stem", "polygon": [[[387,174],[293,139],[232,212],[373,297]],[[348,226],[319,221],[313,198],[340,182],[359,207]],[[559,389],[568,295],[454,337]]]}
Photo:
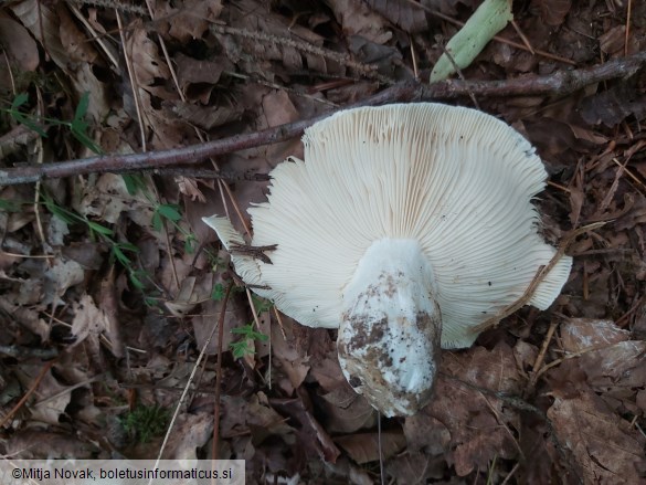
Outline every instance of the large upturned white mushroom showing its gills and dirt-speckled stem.
{"label": "large upturned white mushroom showing its gills and dirt-speckled stem", "polygon": [[[271,173],[251,209],[253,246],[232,254],[260,296],[310,327],[338,329],[350,386],[386,417],[432,398],[441,348],[518,301],[555,249],[531,199],[547,172],[534,148],[485,113],[441,104],[339,112],[305,131],[305,160]],[[245,244],[225,218],[203,219],[226,249]],[[546,309],[572,261],[561,257],[529,304]]]}

